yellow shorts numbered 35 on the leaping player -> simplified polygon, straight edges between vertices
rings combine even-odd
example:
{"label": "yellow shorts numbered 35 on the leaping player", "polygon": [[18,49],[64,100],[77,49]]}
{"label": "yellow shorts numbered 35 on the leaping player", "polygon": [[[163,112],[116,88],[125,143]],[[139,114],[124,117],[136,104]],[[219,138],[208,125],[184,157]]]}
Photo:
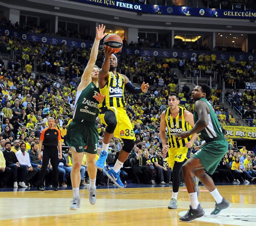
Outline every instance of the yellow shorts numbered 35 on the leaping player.
{"label": "yellow shorts numbered 35 on the leaping player", "polygon": [[[116,129],[114,131],[114,137],[117,137],[119,139],[134,139],[134,131],[132,129],[132,123],[126,114],[126,111],[122,107],[108,107],[108,110],[111,110],[116,115]],[[105,112],[101,111],[99,114],[100,120],[107,125],[107,123],[104,120]]]}

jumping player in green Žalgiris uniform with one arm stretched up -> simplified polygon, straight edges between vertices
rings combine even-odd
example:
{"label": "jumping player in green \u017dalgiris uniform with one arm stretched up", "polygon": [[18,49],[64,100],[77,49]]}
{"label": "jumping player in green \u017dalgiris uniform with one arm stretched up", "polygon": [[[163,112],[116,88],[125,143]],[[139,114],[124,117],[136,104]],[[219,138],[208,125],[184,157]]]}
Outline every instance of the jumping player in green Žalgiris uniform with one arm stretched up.
{"label": "jumping player in green \u017dalgiris uniform with one arm stretched up", "polygon": [[[81,82],[77,88],[75,112],[73,121],[68,126],[66,142],[71,149],[73,156],[73,166],[71,169],[71,182],[73,187],[73,199],[70,210],[77,210],[80,207],[79,185],[81,180],[80,167],[86,152],[88,163],[88,174],[90,184],[87,185],[89,192],[89,202],[93,205],[96,202],[96,173],[95,157],[97,154],[97,144],[99,133],[95,126],[96,117],[99,115],[98,105],[105,98],[99,94],[98,74],[100,68],[95,66],[98,55],[100,40],[106,36],[105,26],[96,27],[96,38],[94,40],[91,56]],[[84,147],[87,148],[84,150]]]}

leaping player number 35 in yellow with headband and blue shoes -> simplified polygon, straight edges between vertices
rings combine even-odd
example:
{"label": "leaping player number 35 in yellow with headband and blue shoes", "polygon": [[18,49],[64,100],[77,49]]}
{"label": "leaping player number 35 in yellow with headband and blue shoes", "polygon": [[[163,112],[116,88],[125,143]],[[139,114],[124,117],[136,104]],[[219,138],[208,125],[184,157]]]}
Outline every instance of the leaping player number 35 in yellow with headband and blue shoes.
{"label": "leaping player number 35 in yellow with headband and blue shoes", "polygon": [[107,125],[103,137],[103,150],[95,163],[96,167],[102,169],[108,156],[108,145],[114,134],[122,139],[122,147],[115,166],[107,171],[107,176],[119,187],[124,188],[120,179],[120,169],[124,161],[129,156],[134,146],[134,132],[129,117],[124,109],[124,88],[132,94],[140,94],[148,91],[148,83],[142,83],[141,88],[136,88],[129,79],[116,72],[117,57],[113,54],[113,49],[104,45],[105,59],[99,72],[99,88],[106,98],[100,103],[101,121]]}

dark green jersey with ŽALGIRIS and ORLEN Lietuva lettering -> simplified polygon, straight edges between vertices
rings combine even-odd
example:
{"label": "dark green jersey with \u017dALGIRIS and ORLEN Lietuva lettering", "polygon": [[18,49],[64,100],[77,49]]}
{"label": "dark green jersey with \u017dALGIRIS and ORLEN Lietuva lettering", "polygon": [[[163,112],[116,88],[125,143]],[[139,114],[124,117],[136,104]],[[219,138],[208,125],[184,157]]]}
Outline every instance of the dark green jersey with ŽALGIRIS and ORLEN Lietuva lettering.
{"label": "dark green jersey with \u017dALGIRIS and ORLEN Lietuva lettering", "polygon": [[84,90],[77,92],[73,119],[95,123],[99,115],[99,102],[93,96],[97,92],[100,92],[100,89],[93,82]]}

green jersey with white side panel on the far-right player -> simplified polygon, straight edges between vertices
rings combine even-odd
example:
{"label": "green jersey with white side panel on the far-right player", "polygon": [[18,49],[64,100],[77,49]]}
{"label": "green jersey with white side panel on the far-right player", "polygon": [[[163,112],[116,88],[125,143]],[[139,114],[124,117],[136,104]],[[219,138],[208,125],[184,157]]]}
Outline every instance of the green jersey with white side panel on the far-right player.
{"label": "green jersey with white side panel on the far-right player", "polygon": [[[220,128],[220,123],[218,121],[218,118],[216,116],[216,113],[212,107],[212,105],[205,99],[201,98],[200,100],[203,100],[210,108],[210,113],[207,115],[208,116],[208,126],[205,127],[202,131],[198,132],[198,135],[200,138],[206,141],[206,143],[216,140],[216,139],[221,139],[225,140],[225,136],[221,131]],[[198,121],[198,115],[196,111],[194,111],[194,122]]]}

